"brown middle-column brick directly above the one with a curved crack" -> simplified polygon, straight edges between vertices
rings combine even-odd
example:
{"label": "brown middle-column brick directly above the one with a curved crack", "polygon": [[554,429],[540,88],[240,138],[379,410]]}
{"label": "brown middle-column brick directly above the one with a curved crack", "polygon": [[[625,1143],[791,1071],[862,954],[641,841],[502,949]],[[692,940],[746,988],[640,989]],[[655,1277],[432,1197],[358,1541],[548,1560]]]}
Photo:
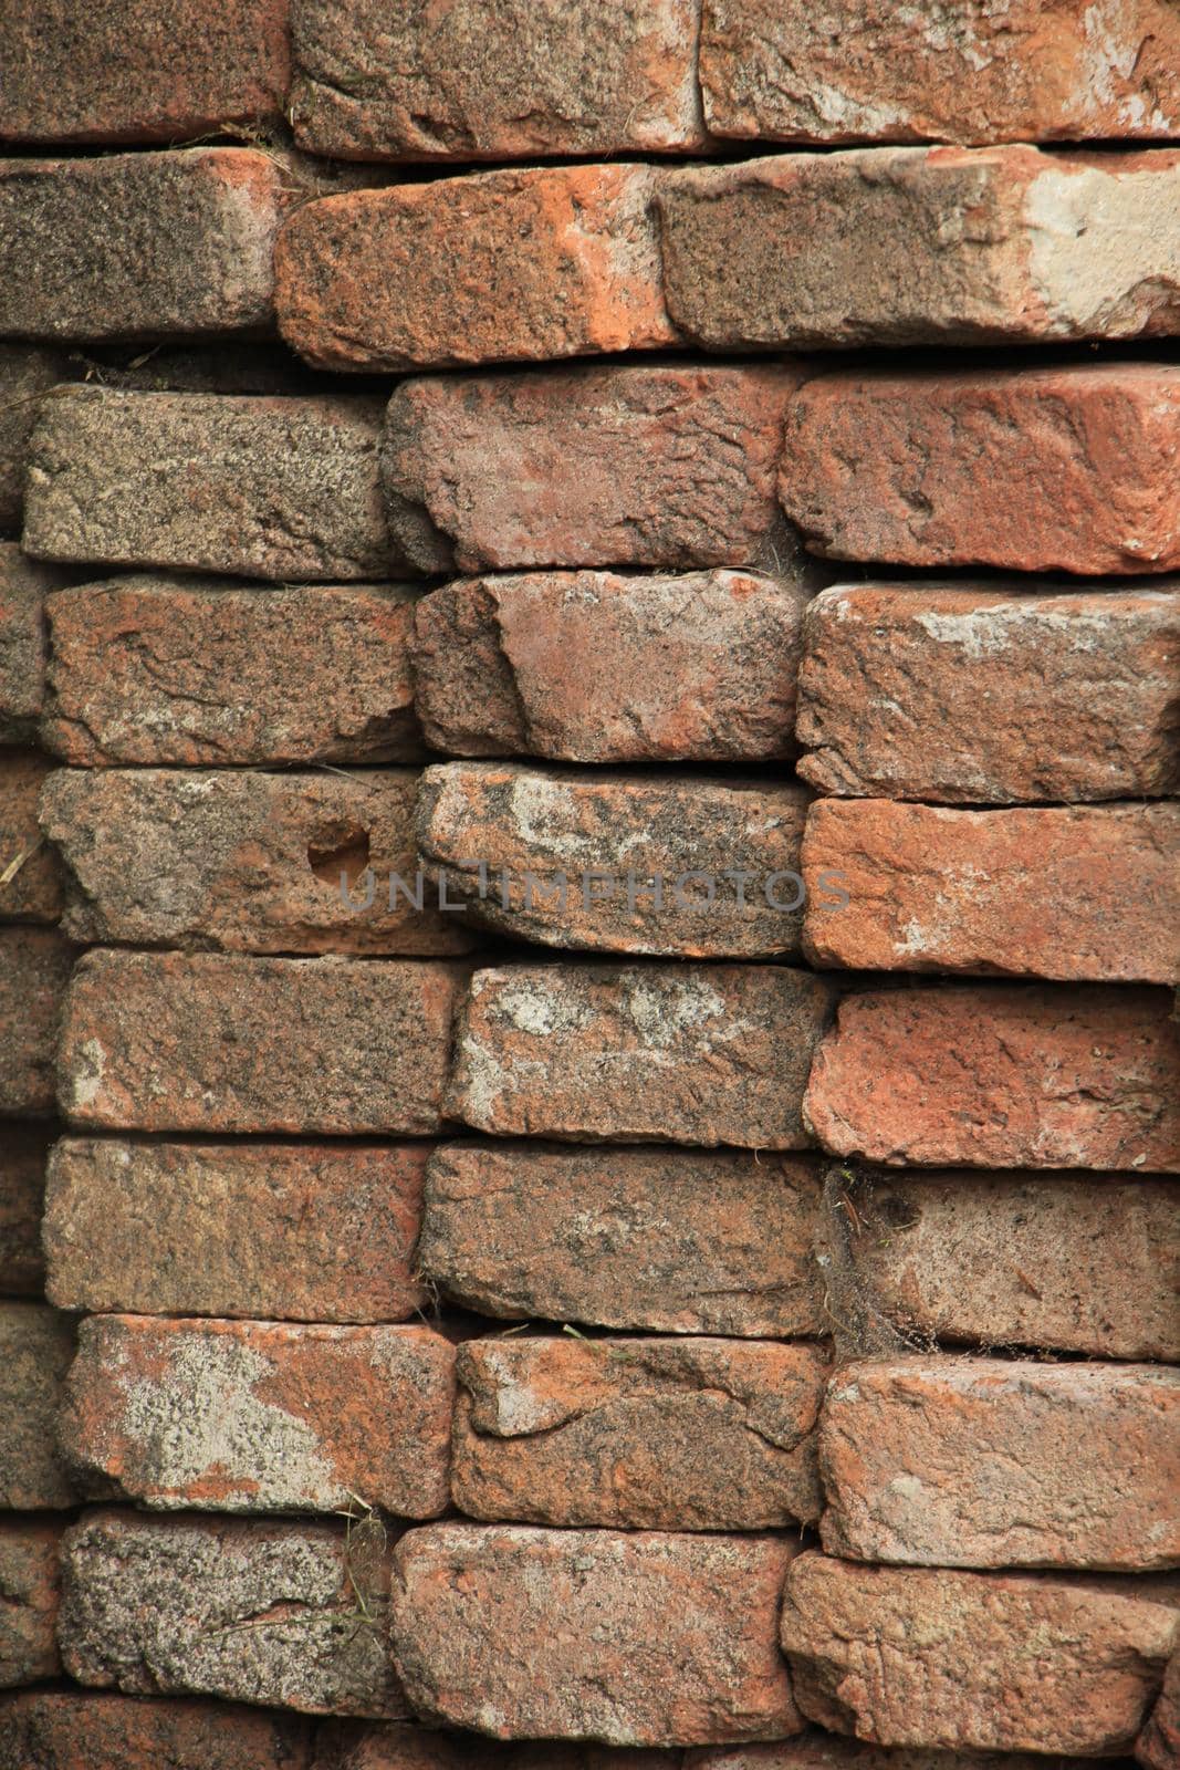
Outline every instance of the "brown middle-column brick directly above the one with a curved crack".
{"label": "brown middle-column brick directly above the one with a curved crack", "polygon": [[442,1143],[418,1262],[481,1315],[821,1333],[814,1165],[738,1150]]}

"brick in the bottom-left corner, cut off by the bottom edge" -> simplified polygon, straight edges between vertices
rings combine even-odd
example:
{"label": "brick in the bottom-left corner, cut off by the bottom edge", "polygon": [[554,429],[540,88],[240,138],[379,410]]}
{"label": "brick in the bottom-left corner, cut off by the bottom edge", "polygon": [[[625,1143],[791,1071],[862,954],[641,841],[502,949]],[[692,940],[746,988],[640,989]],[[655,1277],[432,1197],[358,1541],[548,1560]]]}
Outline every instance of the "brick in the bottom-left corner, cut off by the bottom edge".
{"label": "brick in the bottom-left corner, cut off by the bottom edge", "polygon": [[0,1770],[308,1770],[310,1722],[230,1703],[25,1690],[0,1708]]}

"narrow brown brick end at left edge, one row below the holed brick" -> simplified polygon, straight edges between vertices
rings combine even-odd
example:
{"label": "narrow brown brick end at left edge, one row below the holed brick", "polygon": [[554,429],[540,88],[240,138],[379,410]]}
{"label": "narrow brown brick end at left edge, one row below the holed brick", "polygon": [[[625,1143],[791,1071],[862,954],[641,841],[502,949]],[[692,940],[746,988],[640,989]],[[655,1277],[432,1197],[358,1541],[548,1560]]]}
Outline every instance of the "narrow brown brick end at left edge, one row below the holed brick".
{"label": "narrow brown brick end at left edge, one row below the holed brick", "polygon": [[0,1119],[53,1106],[53,1057],[74,947],[55,927],[0,927]]}

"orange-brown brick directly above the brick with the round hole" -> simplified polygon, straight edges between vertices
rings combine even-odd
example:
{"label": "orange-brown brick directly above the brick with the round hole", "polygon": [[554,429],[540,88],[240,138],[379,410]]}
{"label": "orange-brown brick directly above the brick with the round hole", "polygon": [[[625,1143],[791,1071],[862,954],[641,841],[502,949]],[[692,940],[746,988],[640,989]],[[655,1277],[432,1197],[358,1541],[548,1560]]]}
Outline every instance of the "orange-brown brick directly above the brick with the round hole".
{"label": "orange-brown brick directly above the brick with the round hole", "polygon": [[423,754],[396,586],[124,577],[60,591],[42,736],[69,763],[382,763]]}

